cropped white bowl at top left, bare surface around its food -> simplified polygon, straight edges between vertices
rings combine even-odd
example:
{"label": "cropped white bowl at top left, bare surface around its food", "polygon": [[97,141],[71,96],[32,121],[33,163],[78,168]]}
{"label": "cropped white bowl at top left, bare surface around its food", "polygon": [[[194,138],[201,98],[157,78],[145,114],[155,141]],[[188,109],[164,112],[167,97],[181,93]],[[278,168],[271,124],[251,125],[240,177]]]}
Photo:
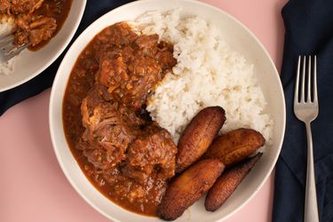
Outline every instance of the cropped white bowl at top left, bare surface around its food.
{"label": "cropped white bowl at top left, bare surface around its food", "polygon": [[65,23],[50,43],[37,52],[25,50],[20,53],[20,56],[16,58],[13,72],[9,75],[0,74],[0,91],[6,91],[28,82],[59,57],[73,38],[82,20],[86,2],[86,0],[73,0]]}

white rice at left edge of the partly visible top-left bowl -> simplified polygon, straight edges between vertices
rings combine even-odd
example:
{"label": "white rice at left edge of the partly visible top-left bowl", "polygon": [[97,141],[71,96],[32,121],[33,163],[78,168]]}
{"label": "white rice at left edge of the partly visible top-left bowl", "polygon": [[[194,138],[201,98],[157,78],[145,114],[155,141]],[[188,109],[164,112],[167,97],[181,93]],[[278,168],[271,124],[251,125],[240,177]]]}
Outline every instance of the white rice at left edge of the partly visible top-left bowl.
{"label": "white rice at left edge of the partly visible top-left bowl", "polygon": [[[0,35],[9,33],[14,28],[14,19],[11,16],[0,15]],[[0,75],[9,75],[14,71],[15,58],[12,58],[8,62],[0,65]]]}

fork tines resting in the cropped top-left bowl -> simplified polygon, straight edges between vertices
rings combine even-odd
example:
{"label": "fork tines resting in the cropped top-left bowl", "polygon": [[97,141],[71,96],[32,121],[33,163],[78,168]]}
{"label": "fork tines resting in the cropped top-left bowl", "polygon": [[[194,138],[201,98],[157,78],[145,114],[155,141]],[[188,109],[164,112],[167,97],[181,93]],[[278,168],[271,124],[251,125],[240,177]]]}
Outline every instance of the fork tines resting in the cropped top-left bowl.
{"label": "fork tines resting in the cropped top-left bowl", "polygon": [[0,35],[0,66],[12,59],[14,56],[20,54],[20,52],[28,48],[30,45],[22,44],[19,47],[16,47],[12,44],[13,41],[14,37],[10,32]]}

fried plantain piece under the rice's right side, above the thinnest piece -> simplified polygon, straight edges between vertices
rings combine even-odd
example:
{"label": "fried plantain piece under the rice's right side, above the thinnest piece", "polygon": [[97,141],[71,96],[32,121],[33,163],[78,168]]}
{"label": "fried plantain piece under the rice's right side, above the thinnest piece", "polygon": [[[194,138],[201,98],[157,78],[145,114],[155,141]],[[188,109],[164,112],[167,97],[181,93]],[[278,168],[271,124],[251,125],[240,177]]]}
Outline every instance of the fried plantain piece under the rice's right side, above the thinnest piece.
{"label": "fried plantain piece under the rice's right side, above the thinnest piece", "polygon": [[202,158],[218,158],[226,167],[230,167],[253,154],[264,144],[265,138],[260,132],[241,128],[228,131],[215,139]]}

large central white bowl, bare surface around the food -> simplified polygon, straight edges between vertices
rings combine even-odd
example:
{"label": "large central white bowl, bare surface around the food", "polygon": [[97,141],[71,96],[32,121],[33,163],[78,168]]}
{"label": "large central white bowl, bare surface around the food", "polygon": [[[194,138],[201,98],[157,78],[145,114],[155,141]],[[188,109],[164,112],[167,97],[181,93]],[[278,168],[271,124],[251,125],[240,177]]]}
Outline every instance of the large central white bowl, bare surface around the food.
{"label": "large central white bowl, bare surface around the food", "polygon": [[285,104],[280,77],[275,69],[274,62],[266,52],[256,36],[251,34],[239,21],[215,7],[189,0],[147,0],[123,5],[96,20],[87,28],[68,50],[59,66],[53,83],[50,101],[50,129],[52,144],[57,155],[61,169],[75,190],[89,202],[93,208],[114,221],[156,221],[158,218],[149,218],[124,210],[100,194],[89,180],[85,178],[75,158],[71,154],[65,139],[62,123],[62,99],[67,85],[68,75],[75,64],[75,59],[83,51],[93,36],[103,28],[122,20],[134,20],[143,12],[149,10],[169,10],[181,7],[186,14],[194,14],[210,21],[224,31],[226,42],[236,51],[241,52],[250,63],[255,65],[258,83],[265,93],[268,103],[266,112],[274,119],[273,146],[266,149],[256,167],[250,171],[247,178],[242,181],[234,194],[219,210],[211,213],[204,210],[202,198],[195,202],[178,221],[218,221],[230,217],[234,212],[249,202],[250,198],[258,192],[261,186],[274,169],[281,150],[281,143],[285,127]]}

